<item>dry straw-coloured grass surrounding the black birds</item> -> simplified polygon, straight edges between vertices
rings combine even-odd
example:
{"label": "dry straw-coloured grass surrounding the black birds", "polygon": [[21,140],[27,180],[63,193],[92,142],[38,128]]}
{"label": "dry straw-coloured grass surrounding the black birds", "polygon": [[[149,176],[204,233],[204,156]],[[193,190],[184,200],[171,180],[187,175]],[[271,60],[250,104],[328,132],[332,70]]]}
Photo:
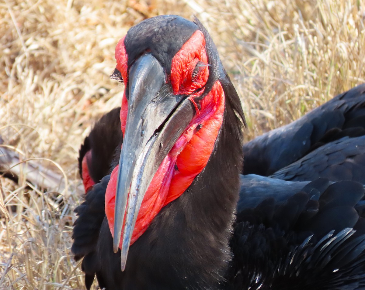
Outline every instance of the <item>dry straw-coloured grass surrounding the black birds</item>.
{"label": "dry straw-coloured grass surrounding the black birds", "polygon": [[195,13],[242,97],[248,138],[365,79],[363,1],[125,2],[0,2],[0,135],[23,160],[41,158],[68,180],[58,205],[49,202],[58,193],[29,187],[26,176],[0,178],[0,289],[84,289],[70,255],[77,151],[89,126],[120,104],[122,87],[108,75],[133,24]]}

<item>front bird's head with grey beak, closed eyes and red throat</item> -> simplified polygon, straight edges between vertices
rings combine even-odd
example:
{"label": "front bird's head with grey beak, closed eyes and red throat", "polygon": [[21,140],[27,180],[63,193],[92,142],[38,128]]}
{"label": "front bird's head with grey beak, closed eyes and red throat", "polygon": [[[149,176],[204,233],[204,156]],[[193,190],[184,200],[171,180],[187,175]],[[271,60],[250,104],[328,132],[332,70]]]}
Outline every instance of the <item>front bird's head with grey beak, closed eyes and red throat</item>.
{"label": "front bird's head with grey beak, closed eyes and red throat", "polygon": [[125,84],[123,145],[105,213],[123,271],[130,245],[207,164],[222,126],[229,79],[205,28],[175,15],[130,28],[115,58],[112,77]]}

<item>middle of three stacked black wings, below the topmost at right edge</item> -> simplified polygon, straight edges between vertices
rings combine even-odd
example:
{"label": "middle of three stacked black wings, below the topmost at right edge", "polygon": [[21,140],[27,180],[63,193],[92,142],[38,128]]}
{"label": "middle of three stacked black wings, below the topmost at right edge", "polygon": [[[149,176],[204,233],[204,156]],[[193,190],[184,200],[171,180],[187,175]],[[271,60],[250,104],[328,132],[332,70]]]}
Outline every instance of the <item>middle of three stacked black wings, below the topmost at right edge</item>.
{"label": "middle of three stacked black wings, below the topmost at right edge", "polygon": [[270,175],[288,181],[351,180],[365,184],[365,136],[327,143]]}

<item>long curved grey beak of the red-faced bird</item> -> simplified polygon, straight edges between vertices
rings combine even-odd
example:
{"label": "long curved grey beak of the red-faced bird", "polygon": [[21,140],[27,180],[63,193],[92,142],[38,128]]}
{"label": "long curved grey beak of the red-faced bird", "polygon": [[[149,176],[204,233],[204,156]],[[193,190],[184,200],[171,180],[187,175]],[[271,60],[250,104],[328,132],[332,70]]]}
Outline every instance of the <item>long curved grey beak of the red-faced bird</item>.
{"label": "long curved grey beak of the red-faced bird", "polygon": [[114,213],[113,249],[118,251],[122,238],[122,271],[143,196],[195,113],[191,102],[183,95],[173,95],[165,83],[165,72],[151,54],[141,56],[130,68]]}

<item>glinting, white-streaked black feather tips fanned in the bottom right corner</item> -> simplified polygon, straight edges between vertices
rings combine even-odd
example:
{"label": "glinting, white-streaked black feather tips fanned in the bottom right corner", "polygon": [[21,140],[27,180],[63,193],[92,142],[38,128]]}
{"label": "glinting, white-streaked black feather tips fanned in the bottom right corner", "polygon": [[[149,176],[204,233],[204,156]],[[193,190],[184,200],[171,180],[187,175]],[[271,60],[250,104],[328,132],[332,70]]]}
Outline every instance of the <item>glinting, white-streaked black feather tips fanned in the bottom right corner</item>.
{"label": "glinting, white-streaked black feather tips fanned in the bottom right corner", "polygon": [[364,289],[365,235],[349,243],[354,232],[345,228],[293,247],[275,269],[270,289]]}

